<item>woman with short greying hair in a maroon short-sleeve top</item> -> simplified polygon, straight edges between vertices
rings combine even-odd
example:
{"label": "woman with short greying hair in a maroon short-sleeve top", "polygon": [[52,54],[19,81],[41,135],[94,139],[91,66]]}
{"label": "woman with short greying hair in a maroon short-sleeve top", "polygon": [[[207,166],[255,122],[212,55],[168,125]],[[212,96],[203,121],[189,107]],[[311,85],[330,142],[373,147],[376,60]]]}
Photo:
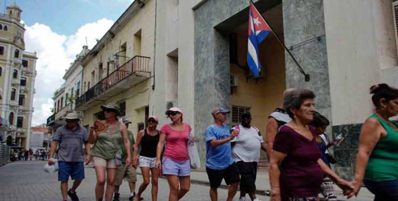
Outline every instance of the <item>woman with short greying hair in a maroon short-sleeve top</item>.
{"label": "woman with short greying hair in a maroon short-sleeve top", "polygon": [[292,121],[281,127],[271,155],[271,200],[316,201],[323,175],[328,175],[347,194],[350,184],[320,158],[314,129],[308,124],[314,114],[314,93],[296,89],[284,97]]}

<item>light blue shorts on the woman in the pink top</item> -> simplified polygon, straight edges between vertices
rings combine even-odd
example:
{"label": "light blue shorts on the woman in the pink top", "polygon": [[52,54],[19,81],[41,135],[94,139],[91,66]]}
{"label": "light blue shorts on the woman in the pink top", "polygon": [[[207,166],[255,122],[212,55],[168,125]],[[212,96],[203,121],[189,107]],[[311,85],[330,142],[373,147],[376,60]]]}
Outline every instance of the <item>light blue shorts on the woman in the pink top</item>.
{"label": "light blue shorts on the woman in the pink top", "polygon": [[189,160],[175,161],[167,157],[162,159],[162,174],[175,176],[190,176],[191,166]]}

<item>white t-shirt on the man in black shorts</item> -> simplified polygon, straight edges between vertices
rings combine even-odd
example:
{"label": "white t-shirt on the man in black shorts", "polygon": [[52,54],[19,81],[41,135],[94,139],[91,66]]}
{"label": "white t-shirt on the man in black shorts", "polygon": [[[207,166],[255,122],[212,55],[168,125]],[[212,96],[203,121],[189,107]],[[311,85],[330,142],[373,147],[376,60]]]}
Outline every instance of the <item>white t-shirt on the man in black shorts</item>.
{"label": "white t-shirt on the man in black shorts", "polygon": [[258,162],[261,143],[264,140],[257,128],[245,128],[239,125],[239,135],[231,142],[234,142],[232,146],[232,158],[235,162]]}

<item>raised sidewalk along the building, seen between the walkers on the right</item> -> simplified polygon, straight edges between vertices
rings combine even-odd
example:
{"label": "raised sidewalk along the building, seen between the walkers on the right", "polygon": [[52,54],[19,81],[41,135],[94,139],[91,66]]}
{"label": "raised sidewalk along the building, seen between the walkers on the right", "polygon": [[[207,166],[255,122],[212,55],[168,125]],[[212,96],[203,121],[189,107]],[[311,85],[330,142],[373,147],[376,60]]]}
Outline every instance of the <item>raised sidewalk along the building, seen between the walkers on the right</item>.
{"label": "raised sidewalk along the building, seen between the walkers on the right", "polygon": [[[191,171],[191,182],[203,185],[209,185],[209,180],[207,173],[205,171]],[[268,174],[268,168],[260,168],[257,170],[257,179],[256,179],[256,194],[264,195],[266,190],[270,190],[270,180]],[[223,180],[222,187],[226,188],[227,185]],[[339,200],[347,200],[347,197],[343,196],[342,190],[338,186],[335,186],[335,189],[339,195]],[[350,198],[349,200],[355,201],[372,201],[374,199],[374,195],[369,192],[366,187],[362,187],[357,197]]]}

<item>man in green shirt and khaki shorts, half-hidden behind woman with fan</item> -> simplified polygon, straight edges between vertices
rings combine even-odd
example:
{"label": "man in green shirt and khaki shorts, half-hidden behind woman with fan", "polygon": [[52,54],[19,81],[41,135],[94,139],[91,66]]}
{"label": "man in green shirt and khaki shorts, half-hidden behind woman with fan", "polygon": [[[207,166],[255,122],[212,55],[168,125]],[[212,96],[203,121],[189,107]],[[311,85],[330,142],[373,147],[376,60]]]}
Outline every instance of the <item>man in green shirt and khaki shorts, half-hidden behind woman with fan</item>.
{"label": "man in green shirt and khaki shorts, half-hidden behind woman with fan", "polygon": [[[130,120],[127,118],[123,118],[121,120],[124,125],[126,125],[127,128],[127,136],[128,139],[130,140],[130,153],[134,153],[134,136],[132,135],[132,132],[128,130],[128,125],[131,124]],[[128,200],[134,199],[136,196],[136,181],[137,181],[137,170],[133,166],[125,166],[125,161],[127,158],[127,153],[126,149],[124,148],[124,145],[121,147],[121,162],[122,165],[117,166],[117,172],[116,172],[116,177],[115,177],[115,188],[114,188],[114,195],[113,195],[113,200],[114,201],[119,201],[120,200],[120,193],[119,193],[119,187],[123,181],[123,178],[126,178],[128,181],[128,186],[130,187],[130,195],[128,196]],[[132,154],[131,154],[132,157]],[[132,161],[132,159],[131,159]]]}

